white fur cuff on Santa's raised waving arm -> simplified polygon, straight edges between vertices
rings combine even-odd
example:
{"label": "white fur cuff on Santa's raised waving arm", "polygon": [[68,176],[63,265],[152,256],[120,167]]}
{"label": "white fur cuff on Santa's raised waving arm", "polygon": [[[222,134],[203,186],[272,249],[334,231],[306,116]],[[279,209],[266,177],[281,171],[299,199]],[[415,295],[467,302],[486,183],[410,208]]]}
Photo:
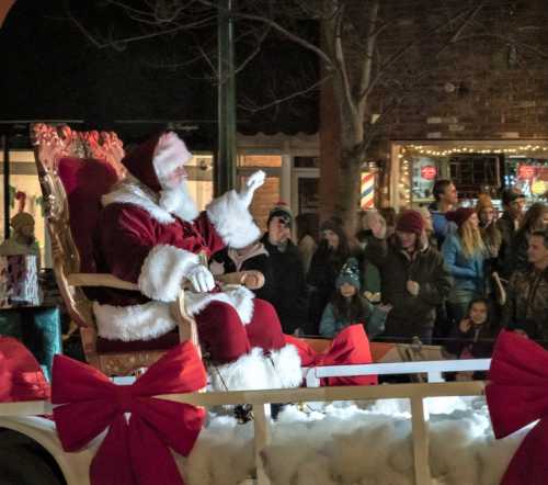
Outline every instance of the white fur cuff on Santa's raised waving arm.
{"label": "white fur cuff on Santa's raised waving arm", "polygon": [[233,190],[212,201],[206,211],[215,230],[227,246],[243,248],[261,235],[248,207]]}

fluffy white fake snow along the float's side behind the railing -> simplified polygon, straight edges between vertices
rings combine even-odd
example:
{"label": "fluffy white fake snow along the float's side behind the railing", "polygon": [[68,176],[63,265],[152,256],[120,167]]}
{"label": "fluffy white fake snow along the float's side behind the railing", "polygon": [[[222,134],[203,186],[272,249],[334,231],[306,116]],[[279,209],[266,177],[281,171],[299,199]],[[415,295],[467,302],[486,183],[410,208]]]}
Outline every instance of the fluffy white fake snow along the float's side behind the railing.
{"label": "fluffy white fake snow along the float's side behind the railing", "polygon": [[[496,441],[483,398],[426,399],[432,485],[498,485],[527,429]],[[273,485],[413,485],[406,399],[286,407],[264,452]],[[320,411],[321,410],[321,411]],[[253,425],[213,416],[189,459],[187,485],[238,485],[252,476]]]}

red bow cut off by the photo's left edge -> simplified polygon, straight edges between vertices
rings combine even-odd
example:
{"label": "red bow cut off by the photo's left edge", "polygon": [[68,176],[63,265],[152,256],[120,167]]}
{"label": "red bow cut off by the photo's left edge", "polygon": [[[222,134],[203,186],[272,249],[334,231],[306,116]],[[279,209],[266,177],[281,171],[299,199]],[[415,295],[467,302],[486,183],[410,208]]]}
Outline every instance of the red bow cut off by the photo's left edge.
{"label": "red bow cut off by the photo's left edge", "polygon": [[0,403],[48,398],[49,384],[34,356],[19,340],[0,337]]}

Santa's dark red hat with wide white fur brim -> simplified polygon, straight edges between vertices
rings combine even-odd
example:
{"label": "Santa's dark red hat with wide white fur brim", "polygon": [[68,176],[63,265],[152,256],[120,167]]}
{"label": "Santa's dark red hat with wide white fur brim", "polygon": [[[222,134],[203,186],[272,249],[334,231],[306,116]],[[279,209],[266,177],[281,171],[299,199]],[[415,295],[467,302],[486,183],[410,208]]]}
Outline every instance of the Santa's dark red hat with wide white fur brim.
{"label": "Santa's dark red hat with wide white fur brim", "polygon": [[159,133],[122,159],[129,173],[153,192],[160,192],[165,180],[183,167],[192,154],[173,132]]}

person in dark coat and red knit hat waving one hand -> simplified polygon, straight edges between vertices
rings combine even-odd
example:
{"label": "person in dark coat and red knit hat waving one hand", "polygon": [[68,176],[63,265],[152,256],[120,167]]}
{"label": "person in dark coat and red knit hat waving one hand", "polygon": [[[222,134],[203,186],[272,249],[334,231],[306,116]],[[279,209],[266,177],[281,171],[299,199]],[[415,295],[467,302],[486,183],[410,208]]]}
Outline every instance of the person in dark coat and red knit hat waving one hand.
{"label": "person in dark coat and red knit hat waving one hand", "polygon": [[452,280],[442,256],[427,244],[421,214],[401,213],[388,240],[378,214],[369,215],[368,225],[375,239],[365,248],[365,257],[379,268],[383,302],[392,305],[383,337],[412,341],[416,336],[430,343],[435,308],[448,295]]}

